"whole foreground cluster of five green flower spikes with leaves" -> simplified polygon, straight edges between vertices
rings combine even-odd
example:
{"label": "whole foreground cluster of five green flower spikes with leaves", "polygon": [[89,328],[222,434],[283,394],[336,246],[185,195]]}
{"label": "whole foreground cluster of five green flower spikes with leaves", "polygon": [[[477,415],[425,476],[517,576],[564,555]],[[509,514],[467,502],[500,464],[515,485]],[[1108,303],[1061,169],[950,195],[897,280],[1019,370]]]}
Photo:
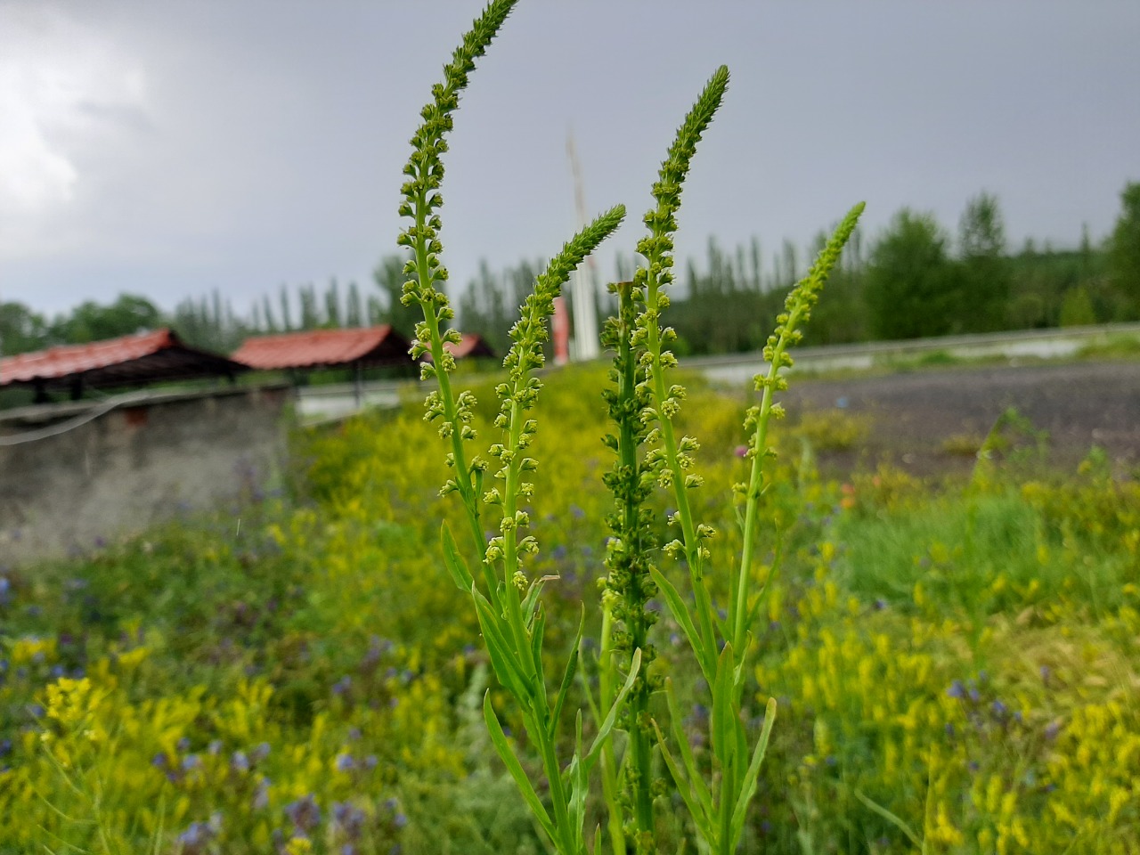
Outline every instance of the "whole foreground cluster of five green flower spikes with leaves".
{"label": "whole foreground cluster of five green flower spikes with leaves", "polygon": [[[545,612],[542,591],[546,579],[528,575],[524,561],[538,552],[536,538],[528,534],[530,516],[524,504],[534,497],[530,479],[538,461],[528,456],[538,423],[530,417],[542,381],[535,370],[544,365],[543,343],[554,311],[554,299],[573,269],[620,225],[625,209],[617,205],[575,235],[535,282],[532,293],[520,309],[520,319],[511,329],[512,347],[504,360],[505,382],[495,393],[499,399],[494,426],[498,442],[483,455],[469,455],[474,442],[475,397],[470,390],[455,392],[449,375],[455,359],[448,344],[457,344],[459,334],[448,328],[454,318],[447,295],[440,286],[447,270],[440,261],[439,187],[443,177],[441,155],[447,150],[445,136],[451,130],[451,114],[459,92],[466,87],[474,62],[481,57],[508,16],[514,0],[494,0],[475,21],[445,67],[443,82],[433,90],[433,100],[422,112],[423,124],[412,139],[413,153],[405,168],[408,180],[400,214],[409,220],[399,244],[413,258],[405,268],[409,276],[404,288],[406,304],[418,304],[424,319],[416,327],[413,357],[430,357],[422,378],[434,380],[427,396],[424,418],[438,423],[439,435],[449,443],[447,465],[453,471],[442,495],[457,494],[464,507],[470,534],[469,556],[478,564],[478,578],[464,559],[465,549],[456,543],[448,527],[442,529],[443,557],[455,584],[470,593],[495,674],[521,714],[527,735],[539,755],[545,777],[546,800],[538,795],[522,762],[507,740],[484,697],[483,714],[491,742],[514,777],[538,824],[560,855],[586,852],[585,822],[591,795],[591,772],[602,762],[602,795],[608,808],[610,842],[616,855],[633,842],[637,853],[657,850],[654,799],[662,782],[654,779],[654,747],[659,749],[674,785],[689,807],[700,846],[715,853],[735,850],[744,828],[748,807],[756,792],[757,779],[772,731],[775,701],[766,707],[764,726],[749,749],[742,723],[744,675],[750,646],[748,628],[764,589],[752,592],[752,548],[756,539],[759,499],[763,495],[764,459],[774,453],[766,445],[767,425],[781,410],[773,392],[785,388],[781,372],[791,366],[789,347],[799,341],[799,324],[806,321],[820,287],[850,236],[862,205],[845,218],[828,242],[808,276],[788,298],[787,311],[765,349],[769,363],[766,375],[758,375],[763,392],[758,407],[749,410],[746,429],[750,431],[752,458],[748,484],[739,484],[744,511],[744,548],[741,555],[727,610],[722,620],[714,605],[712,588],[706,578],[706,562],[711,557],[708,542],[715,537],[711,526],[697,523],[689,491],[701,486],[692,469],[699,443],[679,437],[675,418],[685,390],[668,382],[677,360],[668,350],[676,337],[662,326],[662,312],[669,304],[665,287],[673,280],[673,233],[681,189],[701,135],[712,121],[728,84],[728,70],[719,67],[709,80],[682,124],[653,185],[654,206],[645,215],[650,234],[637,251],[645,259],[632,283],[613,286],[618,315],[605,325],[605,343],[616,352],[612,380],[605,392],[617,434],[606,438],[616,453],[614,469],[605,477],[614,495],[616,510],[609,519],[613,534],[605,564],[598,698],[586,686],[595,735],[588,750],[583,739],[583,711],[575,718],[573,749],[569,762],[559,743],[563,708],[578,669],[579,644],[585,614],[573,648],[562,670],[556,691],[545,673],[543,640]],[[498,483],[484,483],[491,472]],[[659,544],[652,534],[652,512],[646,503],[656,487],[671,490],[677,511],[669,524],[681,537]],[[484,537],[484,523],[494,519],[497,532]],[[690,572],[695,603],[695,622],[681,592],[652,564],[658,551],[683,560]],[[649,633],[654,624],[648,605],[661,593],[669,611],[683,628],[701,673],[711,687],[710,743],[714,768],[705,781],[689,747],[676,703],[666,681],[649,673],[656,658]],[[668,700],[674,748],[670,749],[658,724],[660,711],[653,709],[653,695],[661,689]],[[618,756],[611,733],[620,720],[626,733],[625,750]],[[674,752],[679,756],[675,758]],[[548,807],[547,807],[548,804]],[[594,836],[593,850],[600,853],[602,832]]]}

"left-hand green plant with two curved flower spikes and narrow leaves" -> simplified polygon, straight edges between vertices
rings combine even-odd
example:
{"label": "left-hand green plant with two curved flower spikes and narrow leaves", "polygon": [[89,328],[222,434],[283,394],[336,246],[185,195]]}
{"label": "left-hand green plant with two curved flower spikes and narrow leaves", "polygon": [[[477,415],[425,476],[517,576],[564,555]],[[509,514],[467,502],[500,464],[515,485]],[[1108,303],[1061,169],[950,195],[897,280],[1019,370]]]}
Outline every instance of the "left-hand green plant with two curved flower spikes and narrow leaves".
{"label": "left-hand green plant with two curved flower spikes and narrow leaves", "polygon": [[[640,658],[635,653],[629,676],[598,723],[588,749],[583,740],[579,711],[575,748],[569,763],[564,762],[560,756],[559,735],[562,708],[577,669],[577,645],[556,692],[552,694],[543,658],[545,614],[539,594],[545,580],[527,576],[523,561],[538,551],[538,542],[527,534],[530,518],[521,505],[534,495],[535,489],[534,482],[528,479],[538,467],[538,462],[527,455],[527,449],[538,424],[528,413],[542,389],[542,381],[535,376],[535,370],[545,361],[543,343],[548,335],[547,320],[554,311],[554,299],[578,264],[621,225],[625,207],[617,205],[610,209],[575,235],[536,280],[532,293],[522,306],[519,321],[511,329],[513,343],[504,360],[506,382],[495,390],[499,398],[495,427],[502,431],[502,441],[492,443],[486,457],[475,455],[470,462],[466,443],[477,439],[471,425],[475,397],[471,391],[458,394],[453,391],[448,375],[455,368],[455,358],[447,344],[458,343],[459,334],[445,328],[454,311],[447,295],[437,287],[437,284],[447,280],[447,270],[439,260],[441,246],[438,238],[438,211],[442,204],[438,190],[443,177],[440,155],[447,150],[443,137],[451,129],[451,113],[458,106],[458,95],[467,83],[474,60],[483,55],[513,6],[514,0],[497,0],[489,3],[475,21],[456,49],[451,63],[443,70],[445,82],[434,87],[433,101],[424,107],[423,124],[412,139],[413,153],[405,168],[408,181],[404,185],[405,202],[400,214],[410,219],[413,225],[404,230],[399,243],[413,251],[413,258],[405,268],[410,278],[405,285],[402,299],[406,304],[417,303],[424,314],[424,320],[416,327],[413,357],[430,353],[431,361],[424,364],[422,376],[438,382],[437,390],[427,397],[424,417],[429,422],[439,422],[440,437],[450,441],[447,463],[455,474],[447,480],[441,492],[457,492],[463,503],[481,585],[475,581],[454,537],[445,527],[447,565],[456,585],[471,593],[495,674],[518,703],[528,736],[538,750],[548,787],[549,809],[507,741],[488,693],[483,716],[491,742],[554,848],[563,855],[580,855],[586,852],[584,826],[589,773],[613,727],[621,701],[636,677]],[[489,470],[500,483],[484,491],[484,475]],[[482,534],[484,516],[497,518],[498,529],[498,534],[487,542]],[[579,628],[579,637],[580,633]]]}

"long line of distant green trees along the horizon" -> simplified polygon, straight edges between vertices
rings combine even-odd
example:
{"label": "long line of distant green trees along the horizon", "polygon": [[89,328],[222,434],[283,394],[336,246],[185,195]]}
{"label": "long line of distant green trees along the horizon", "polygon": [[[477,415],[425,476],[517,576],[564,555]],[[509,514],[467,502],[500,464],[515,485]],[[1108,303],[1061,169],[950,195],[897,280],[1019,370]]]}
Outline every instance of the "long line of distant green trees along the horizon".
{"label": "long line of distant green trees along the horizon", "polygon": [[[677,277],[682,287],[670,309],[677,352],[763,347],[784,296],[823,241],[821,231],[804,252],[784,242],[768,255],[755,237],[731,250],[709,238],[702,263],[690,259]],[[634,263],[619,255],[614,280],[632,278]],[[217,291],[184,300],[169,316],[131,294],[106,306],[88,301],[50,320],[19,302],[0,302],[0,353],[166,325],[187,343],[218,352],[231,352],[249,335],[300,329],[391,324],[410,336],[418,309],[399,301],[402,267],[401,256],[385,255],[368,291],[355,282],[342,288],[335,278],[320,287],[283,285],[244,315]],[[504,352],[518,307],[540,269],[539,260],[497,271],[480,262],[456,295],[459,327]],[[612,307],[604,291],[596,291],[601,318]],[[903,209],[873,241],[858,231],[853,236],[806,341],[838,344],[1129,320],[1140,320],[1140,182],[1129,182],[1121,193],[1112,234],[1093,243],[1085,229],[1076,249],[1027,239],[1010,251],[1000,203],[986,193],[967,203],[953,234],[933,213]]]}

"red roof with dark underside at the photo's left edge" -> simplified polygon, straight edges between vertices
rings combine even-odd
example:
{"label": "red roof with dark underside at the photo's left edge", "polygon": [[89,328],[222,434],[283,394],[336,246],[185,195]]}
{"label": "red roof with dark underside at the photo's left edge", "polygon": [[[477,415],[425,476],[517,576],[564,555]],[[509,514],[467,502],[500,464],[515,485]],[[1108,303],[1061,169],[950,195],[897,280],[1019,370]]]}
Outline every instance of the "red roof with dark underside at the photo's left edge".
{"label": "red roof with dark underside at the photo's left edge", "polygon": [[243,370],[225,357],[188,348],[170,329],[121,339],[63,344],[0,359],[0,386],[14,383],[57,385],[51,381],[81,376],[85,385],[107,386],[231,375]]}

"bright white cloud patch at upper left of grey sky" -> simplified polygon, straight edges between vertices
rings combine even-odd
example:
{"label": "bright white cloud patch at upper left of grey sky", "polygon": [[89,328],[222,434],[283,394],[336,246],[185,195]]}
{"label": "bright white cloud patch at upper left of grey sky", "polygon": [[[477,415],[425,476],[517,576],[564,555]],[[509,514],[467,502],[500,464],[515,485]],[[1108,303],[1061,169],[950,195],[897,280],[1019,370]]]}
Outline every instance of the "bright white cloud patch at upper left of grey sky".
{"label": "bright white cloud patch at upper left of grey sky", "polygon": [[146,90],[98,32],[51,7],[0,5],[0,258],[59,244],[87,155],[137,132]]}

